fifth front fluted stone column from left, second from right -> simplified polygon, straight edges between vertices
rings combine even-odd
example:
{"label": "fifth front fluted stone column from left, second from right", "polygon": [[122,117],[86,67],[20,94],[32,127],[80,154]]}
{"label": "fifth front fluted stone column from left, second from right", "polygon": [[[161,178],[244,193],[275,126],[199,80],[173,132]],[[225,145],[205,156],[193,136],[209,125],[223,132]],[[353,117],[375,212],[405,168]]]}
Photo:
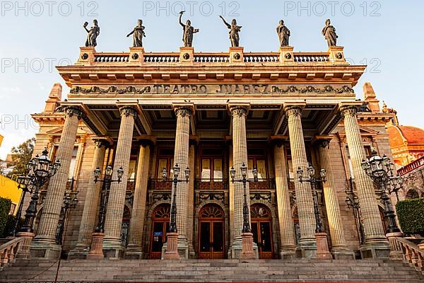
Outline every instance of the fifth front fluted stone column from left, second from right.
{"label": "fifth front fluted stone column from left, second from right", "polygon": [[[307,157],[305,140],[302,130],[302,109],[304,105],[293,105],[285,108],[288,117],[288,132],[290,137],[290,150],[293,163],[293,171],[302,168],[307,172]],[[295,175],[296,204],[298,205],[300,240],[298,251],[302,258],[315,258],[317,243],[315,241],[315,216],[314,200],[310,183],[300,183]]]}

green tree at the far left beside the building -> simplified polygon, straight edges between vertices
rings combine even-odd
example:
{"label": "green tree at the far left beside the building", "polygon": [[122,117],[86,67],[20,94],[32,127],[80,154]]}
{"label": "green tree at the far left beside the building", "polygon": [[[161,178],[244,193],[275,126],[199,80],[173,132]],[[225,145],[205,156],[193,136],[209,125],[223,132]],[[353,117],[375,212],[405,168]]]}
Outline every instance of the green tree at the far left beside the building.
{"label": "green tree at the far left beside the building", "polygon": [[35,138],[28,139],[27,141],[20,144],[18,147],[13,146],[12,148],[12,161],[8,163],[8,166],[14,166],[13,171],[8,173],[8,177],[12,178],[14,175],[25,175],[28,162],[33,157],[35,145]]}

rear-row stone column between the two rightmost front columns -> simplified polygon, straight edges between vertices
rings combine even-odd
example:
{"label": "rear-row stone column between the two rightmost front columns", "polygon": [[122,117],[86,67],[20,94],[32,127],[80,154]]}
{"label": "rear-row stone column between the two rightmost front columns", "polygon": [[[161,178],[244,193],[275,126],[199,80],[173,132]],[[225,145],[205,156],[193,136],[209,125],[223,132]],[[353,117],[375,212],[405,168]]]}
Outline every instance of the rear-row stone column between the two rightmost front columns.
{"label": "rear-row stone column between the two rightmost front columns", "polygon": [[337,192],[334,187],[334,171],[331,168],[329,140],[321,139],[317,143],[319,161],[321,168],[326,171],[326,182],[322,183],[324,190],[325,208],[329,221],[329,230],[332,243],[332,253],[337,259],[355,258],[352,250],[346,244],[343,224],[341,223],[340,206],[338,204]]}

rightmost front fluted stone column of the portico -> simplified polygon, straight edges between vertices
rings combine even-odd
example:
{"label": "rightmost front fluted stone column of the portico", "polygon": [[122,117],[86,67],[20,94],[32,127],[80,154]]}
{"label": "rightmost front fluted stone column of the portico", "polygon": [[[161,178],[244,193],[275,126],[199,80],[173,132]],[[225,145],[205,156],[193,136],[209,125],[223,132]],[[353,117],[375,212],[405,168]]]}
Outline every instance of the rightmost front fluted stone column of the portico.
{"label": "rightmost front fluted stone column of the portico", "polygon": [[355,105],[342,105],[341,107],[365,231],[365,243],[360,248],[360,252],[363,258],[389,258],[389,242],[384,236],[374,184],[360,165],[366,158],[366,154],[356,112],[357,106]]}

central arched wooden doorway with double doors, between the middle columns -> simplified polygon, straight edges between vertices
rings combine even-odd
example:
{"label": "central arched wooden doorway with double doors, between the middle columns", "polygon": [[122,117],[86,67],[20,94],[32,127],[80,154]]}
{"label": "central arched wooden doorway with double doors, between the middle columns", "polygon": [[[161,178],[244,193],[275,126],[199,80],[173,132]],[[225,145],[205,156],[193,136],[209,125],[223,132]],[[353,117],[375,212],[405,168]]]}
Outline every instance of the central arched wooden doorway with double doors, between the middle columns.
{"label": "central arched wooden doorway with double doors, between the middle columns", "polygon": [[199,213],[199,258],[224,258],[224,212],[216,204],[207,204]]}

